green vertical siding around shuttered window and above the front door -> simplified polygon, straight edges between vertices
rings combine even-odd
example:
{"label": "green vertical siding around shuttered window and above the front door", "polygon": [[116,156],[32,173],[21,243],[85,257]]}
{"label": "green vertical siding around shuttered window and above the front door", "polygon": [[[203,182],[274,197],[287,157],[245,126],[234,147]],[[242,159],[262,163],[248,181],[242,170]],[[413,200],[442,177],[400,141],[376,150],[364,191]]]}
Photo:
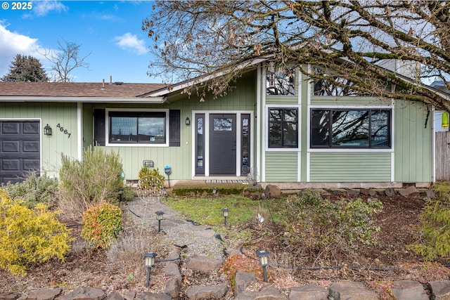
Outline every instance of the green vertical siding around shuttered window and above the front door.
{"label": "green vertical siding around shuttered window and above the front door", "polygon": [[[169,96],[166,103],[161,105],[137,105],[137,104],[107,104],[90,103],[83,105],[83,126],[84,126],[84,147],[93,143],[93,113],[95,108],[120,108],[128,109],[146,108],[148,110],[155,108],[164,108],[181,111],[181,145],[180,147],[105,147],[107,151],[119,152],[124,166],[125,178],[135,180],[138,178],[139,170],[142,167],[143,160],[153,160],[155,168],[167,178],[164,173],[164,167],[172,167],[170,179],[191,179],[192,178],[192,131],[195,130],[193,116],[191,111],[238,111],[255,110],[255,72],[248,74],[240,79],[236,89],[230,91],[226,96],[214,99],[207,95],[204,102],[200,102],[197,96],[188,98],[186,94]],[[184,120],[186,117],[191,119],[191,125],[186,126]],[[255,126],[255,124],[252,124]],[[255,147],[255,145],[253,145]]]}

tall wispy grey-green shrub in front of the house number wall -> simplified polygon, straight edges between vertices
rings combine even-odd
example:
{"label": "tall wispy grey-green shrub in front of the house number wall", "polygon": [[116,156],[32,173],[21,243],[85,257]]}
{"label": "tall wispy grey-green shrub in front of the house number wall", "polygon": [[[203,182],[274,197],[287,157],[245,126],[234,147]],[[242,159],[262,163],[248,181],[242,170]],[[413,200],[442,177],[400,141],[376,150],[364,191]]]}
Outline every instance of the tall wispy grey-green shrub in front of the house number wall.
{"label": "tall wispy grey-green shrub in front of the house number wall", "polygon": [[65,155],[61,162],[59,204],[68,214],[75,214],[75,219],[79,219],[90,204],[119,198],[123,182],[117,152],[89,147],[83,151],[81,162]]}

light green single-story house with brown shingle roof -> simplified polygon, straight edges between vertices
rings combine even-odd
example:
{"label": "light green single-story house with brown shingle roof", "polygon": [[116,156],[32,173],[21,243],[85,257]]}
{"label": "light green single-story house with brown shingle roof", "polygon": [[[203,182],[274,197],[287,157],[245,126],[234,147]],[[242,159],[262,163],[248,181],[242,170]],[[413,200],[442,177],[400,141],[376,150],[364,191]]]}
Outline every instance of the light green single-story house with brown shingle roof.
{"label": "light green single-story house with brown shingle roof", "polygon": [[171,181],[251,176],[281,188],[435,181],[435,126],[423,103],[264,61],[221,98],[201,102],[186,84],[0,82],[0,181],[29,169],[58,176],[60,155],[79,159],[89,145],[119,152],[127,180],[153,164],[161,174],[169,166]]}

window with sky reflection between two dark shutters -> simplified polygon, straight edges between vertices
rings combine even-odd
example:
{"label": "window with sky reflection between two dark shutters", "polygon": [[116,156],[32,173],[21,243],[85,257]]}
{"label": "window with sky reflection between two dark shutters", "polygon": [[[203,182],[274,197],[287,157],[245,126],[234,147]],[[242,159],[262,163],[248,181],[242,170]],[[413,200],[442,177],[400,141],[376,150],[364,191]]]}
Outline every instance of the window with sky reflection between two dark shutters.
{"label": "window with sky reflection between two dark shutters", "polygon": [[109,143],[166,143],[166,112],[109,112]]}

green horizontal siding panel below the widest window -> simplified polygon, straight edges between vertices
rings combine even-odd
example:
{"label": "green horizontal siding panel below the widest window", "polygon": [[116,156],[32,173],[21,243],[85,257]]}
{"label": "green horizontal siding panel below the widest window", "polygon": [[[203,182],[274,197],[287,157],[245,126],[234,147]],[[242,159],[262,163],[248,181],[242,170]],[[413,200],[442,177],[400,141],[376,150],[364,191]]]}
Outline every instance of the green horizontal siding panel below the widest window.
{"label": "green horizontal siding panel below the widest window", "polygon": [[311,182],[390,182],[391,154],[312,152]]}

